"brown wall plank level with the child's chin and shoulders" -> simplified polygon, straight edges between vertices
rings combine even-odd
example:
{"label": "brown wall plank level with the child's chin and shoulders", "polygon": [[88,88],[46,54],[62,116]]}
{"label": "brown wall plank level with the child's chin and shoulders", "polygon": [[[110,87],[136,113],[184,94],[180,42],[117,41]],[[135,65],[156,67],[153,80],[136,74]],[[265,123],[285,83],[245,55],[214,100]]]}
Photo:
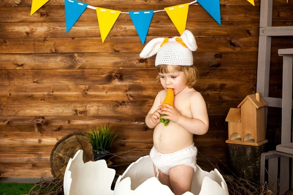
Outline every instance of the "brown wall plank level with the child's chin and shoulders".
{"label": "brown wall plank level with the child's chin and shoulders", "polygon": [[[254,86],[253,86],[254,85]],[[233,82],[227,84],[208,84],[199,81],[194,87],[205,100],[239,99],[253,93],[255,84]],[[0,87],[0,100],[4,101],[63,101],[63,100],[154,100],[162,90],[160,83],[153,85],[14,85]],[[237,92],[237,93],[235,93]]]}

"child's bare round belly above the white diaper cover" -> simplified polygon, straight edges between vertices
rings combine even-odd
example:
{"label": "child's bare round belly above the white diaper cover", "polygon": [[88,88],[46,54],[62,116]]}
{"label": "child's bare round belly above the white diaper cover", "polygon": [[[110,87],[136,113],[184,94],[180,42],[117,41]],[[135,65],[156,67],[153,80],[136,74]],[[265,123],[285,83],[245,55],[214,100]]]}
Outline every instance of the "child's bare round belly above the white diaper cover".
{"label": "child's bare round belly above the white diaper cover", "polygon": [[176,123],[169,122],[164,126],[160,122],[154,129],[153,142],[158,152],[173,153],[190,146],[193,143],[193,134]]}

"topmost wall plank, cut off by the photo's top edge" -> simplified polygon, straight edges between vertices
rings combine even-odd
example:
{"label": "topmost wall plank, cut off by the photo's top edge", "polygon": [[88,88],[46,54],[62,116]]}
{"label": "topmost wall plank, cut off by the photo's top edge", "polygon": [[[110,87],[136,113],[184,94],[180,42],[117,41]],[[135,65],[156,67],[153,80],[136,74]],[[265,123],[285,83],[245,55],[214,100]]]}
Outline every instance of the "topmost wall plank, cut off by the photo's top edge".
{"label": "topmost wall plank, cut off by the photo's top edge", "polygon": [[[109,5],[109,4],[127,4],[129,3],[129,0],[91,0],[90,5],[92,6],[101,6],[101,5]],[[186,3],[186,0],[147,0],[147,1],[141,1],[141,0],[132,0],[131,5],[141,5],[141,4],[183,4]],[[277,4],[284,4],[284,0],[273,0],[274,5]],[[289,4],[292,3],[291,1],[288,2]],[[220,4],[240,4],[240,5],[247,5],[248,2],[243,0],[220,0]],[[255,5],[260,4],[260,0],[254,0]],[[46,6],[53,6],[53,5],[64,5],[64,0],[51,0],[48,1]],[[1,0],[0,6],[7,6],[7,7],[16,7],[16,6],[31,6],[31,1],[29,0]]]}

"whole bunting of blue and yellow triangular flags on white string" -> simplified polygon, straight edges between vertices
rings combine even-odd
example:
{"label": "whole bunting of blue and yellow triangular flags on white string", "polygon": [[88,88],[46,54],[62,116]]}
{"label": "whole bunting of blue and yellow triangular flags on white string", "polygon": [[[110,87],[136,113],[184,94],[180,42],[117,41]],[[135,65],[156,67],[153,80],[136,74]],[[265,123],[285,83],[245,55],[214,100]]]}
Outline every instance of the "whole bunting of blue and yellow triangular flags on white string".
{"label": "whole bunting of blue and yellow triangular flags on white string", "polygon": [[[49,0],[32,0],[31,15],[33,15],[48,1]],[[249,1],[254,6],[254,0],[247,1]],[[147,32],[154,13],[165,11],[181,35],[186,28],[189,5],[196,2],[200,4],[209,13],[209,15],[214,20],[216,20],[216,22],[218,22],[219,25],[221,25],[220,0],[193,0],[189,3],[165,7],[164,10],[143,10],[129,12],[94,7],[77,0],[64,0],[66,33],[70,31],[76,21],[81,17],[81,15],[84,13],[84,10],[89,8],[96,10],[103,43],[120,14],[129,14],[141,42],[145,44]]]}

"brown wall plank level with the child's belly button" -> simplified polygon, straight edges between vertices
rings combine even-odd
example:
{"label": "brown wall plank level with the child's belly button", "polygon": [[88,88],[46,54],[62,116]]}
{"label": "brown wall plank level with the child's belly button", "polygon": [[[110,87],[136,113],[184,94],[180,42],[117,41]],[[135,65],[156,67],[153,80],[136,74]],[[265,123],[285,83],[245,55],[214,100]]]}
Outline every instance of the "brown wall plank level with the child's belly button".
{"label": "brown wall plank level with the child's belly button", "polygon": [[[113,128],[114,129],[114,128]],[[119,133],[119,137],[113,143],[113,147],[128,146],[128,147],[147,147],[152,144],[152,130],[142,131],[139,128],[129,127],[128,129],[114,129],[116,133]],[[40,147],[39,152],[48,152],[48,147],[53,147],[57,141],[64,136],[76,132],[74,129],[71,131],[50,131],[50,132],[0,132],[0,146],[1,152],[7,152],[8,148],[18,148],[19,151],[12,153],[31,154],[38,151],[30,151],[30,147]],[[89,132],[89,129],[84,129],[80,132]],[[18,134],[18,135],[15,135]],[[225,147],[225,132],[221,131],[208,131],[204,136],[194,136],[194,141],[198,147],[210,147],[210,141],[214,142],[214,147]],[[136,145],[137,144],[137,145]],[[146,146],[144,146],[146,144]],[[7,147],[7,148],[6,148]],[[23,147],[21,149],[21,147]],[[6,148],[6,149],[5,149]],[[212,154],[213,152],[211,152]]]}

